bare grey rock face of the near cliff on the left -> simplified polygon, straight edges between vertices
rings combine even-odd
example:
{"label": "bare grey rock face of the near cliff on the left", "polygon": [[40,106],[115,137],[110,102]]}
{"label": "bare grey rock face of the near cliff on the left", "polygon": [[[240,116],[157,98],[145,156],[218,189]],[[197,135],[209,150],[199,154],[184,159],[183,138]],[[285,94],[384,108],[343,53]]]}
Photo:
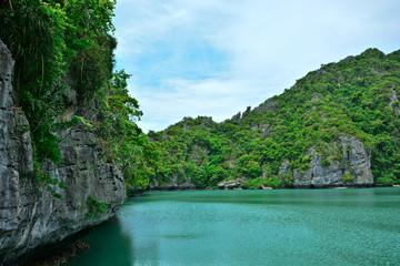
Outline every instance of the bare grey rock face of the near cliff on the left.
{"label": "bare grey rock face of the near cliff on the left", "polygon": [[[102,161],[96,136],[82,125],[59,132],[66,137],[60,142],[62,162],[44,165],[50,177],[67,185],[67,190],[58,188],[62,198],[38,187],[29,123],[21,111],[12,108],[12,68],[11,54],[0,41],[0,265],[21,263],[107,221],[126,198],[120,168]],[[89,195],[108,205],[99,219],[87,215]]]}

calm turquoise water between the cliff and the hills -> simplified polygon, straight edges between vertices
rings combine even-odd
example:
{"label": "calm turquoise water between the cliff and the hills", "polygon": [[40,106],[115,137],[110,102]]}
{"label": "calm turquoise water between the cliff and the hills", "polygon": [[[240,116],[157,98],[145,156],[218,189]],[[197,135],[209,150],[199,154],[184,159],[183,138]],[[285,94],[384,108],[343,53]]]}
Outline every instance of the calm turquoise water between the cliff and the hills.
{"label": "calm turquoise water between the cliff and the hills", "polygon": [[400,187],[130,198],[68,265],[400,265]]}

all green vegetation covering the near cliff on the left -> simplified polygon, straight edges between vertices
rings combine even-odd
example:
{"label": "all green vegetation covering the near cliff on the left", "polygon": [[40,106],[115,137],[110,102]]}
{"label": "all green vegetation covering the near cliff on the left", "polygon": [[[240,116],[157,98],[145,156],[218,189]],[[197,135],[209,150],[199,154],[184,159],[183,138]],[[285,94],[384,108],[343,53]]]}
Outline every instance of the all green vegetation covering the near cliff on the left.
{"label": "all green vegetation covering the near cliff on the left", "polygon": [[[36,177],[52,193],[53,185],[63,184],[41,167],[47,160],[61,161],[58,130],[86,126],[97,132],[104,156],[121,165],[128,178],[134,172],[128,157],[141,154],[146,136],[134,123],[139,104],[128,95],[129,75],[113,72],[114,6],[116,0],[0,2],[0,39],[16,60],[14,108],[30,124],[24,130],[32,137]],[[64,101],[71,93],[76,106]],[[83,108],[80,113],[78,106]],[[96,113],[97,121],[83,117],[86,111]]]}

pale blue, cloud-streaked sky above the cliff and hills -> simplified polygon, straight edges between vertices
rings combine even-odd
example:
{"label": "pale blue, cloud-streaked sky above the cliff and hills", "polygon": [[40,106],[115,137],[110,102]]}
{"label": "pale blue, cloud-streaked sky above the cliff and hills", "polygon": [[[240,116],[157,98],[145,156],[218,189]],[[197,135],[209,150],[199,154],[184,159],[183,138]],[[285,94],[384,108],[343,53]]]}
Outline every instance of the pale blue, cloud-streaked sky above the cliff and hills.
{"label": "pale blue, cloud-streaked sky above the cliff and hills", "polygon": [[221,122],[321,64],[400,49],[399,0],[118,0],[117,69],[132,74],[139,126]]}

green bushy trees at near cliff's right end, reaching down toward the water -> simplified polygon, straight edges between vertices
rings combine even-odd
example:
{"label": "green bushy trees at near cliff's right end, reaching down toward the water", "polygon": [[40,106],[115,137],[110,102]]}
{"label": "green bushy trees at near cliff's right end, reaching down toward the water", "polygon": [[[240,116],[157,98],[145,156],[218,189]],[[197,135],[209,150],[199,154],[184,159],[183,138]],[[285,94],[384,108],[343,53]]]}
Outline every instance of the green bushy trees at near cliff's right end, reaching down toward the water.
{"label": "green bushy trees at near cliff's right end, reaching down toward the water", "polygon": [[101,136],[104,156],[110,163],[121,166],[127,192],[131,195],[136,190],[144,190],[154,177],[158,149],[157,144],[148,142],[136,124],[142,112],[138,101],[128,94],[129,78],[124,70],[112,74],[97,132]]}

